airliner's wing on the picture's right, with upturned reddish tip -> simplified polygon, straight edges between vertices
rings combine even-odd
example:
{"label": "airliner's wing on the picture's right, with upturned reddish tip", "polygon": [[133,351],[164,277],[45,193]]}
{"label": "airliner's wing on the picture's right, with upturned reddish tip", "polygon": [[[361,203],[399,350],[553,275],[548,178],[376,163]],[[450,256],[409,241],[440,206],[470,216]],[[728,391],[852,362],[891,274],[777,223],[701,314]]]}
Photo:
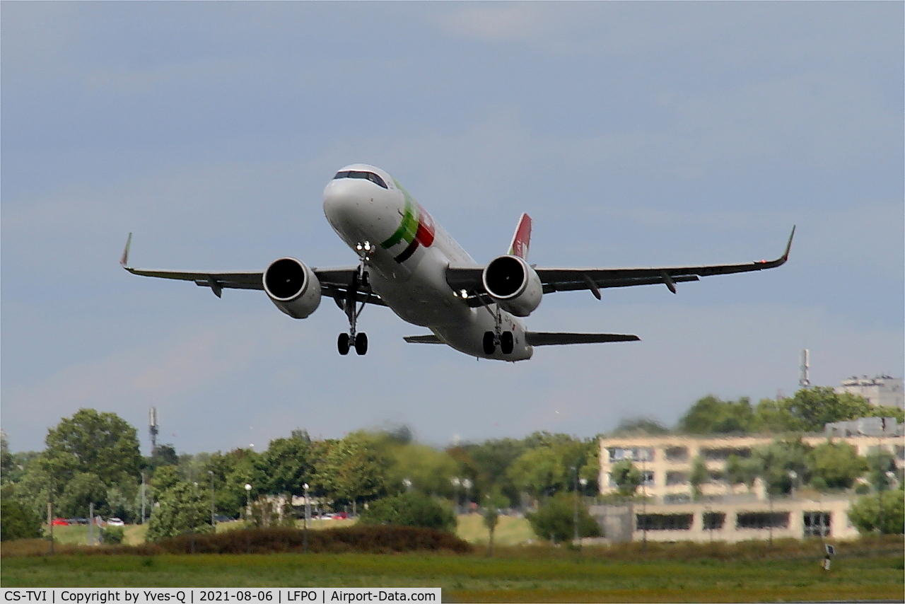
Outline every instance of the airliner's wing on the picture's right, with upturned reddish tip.
{"label": "airliner's wing on the picture's right, with upturned reddish tip", "polygon": [[[763,271],[786,264],[792,249],[795,227],[789,235],[786,251],[776,260],[760,260],[744,264],[706,264],[701,266],[664,266],[652,268],[542,268],[533,267],[540,277],[544,293],[590,290],[600,299],[600,290],[608,287],[630,287],[662,283],[673,293],[676,283],[698,281],[713,274],[748,273]],[[482,267],[454,267],[446,269],[446,283],[452,291],[468,292],[467,302],[481,306],[492,300],[481,283]]]}

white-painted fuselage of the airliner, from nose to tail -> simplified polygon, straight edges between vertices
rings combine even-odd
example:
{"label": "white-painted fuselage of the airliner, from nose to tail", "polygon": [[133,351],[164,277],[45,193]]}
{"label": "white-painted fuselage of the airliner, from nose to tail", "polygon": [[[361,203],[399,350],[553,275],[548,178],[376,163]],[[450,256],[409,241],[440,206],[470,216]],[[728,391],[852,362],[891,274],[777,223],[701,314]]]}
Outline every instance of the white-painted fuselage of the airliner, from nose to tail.
{"label": "white-painted fuselage of the airliner, from nose to tail", "polygon": [[376,246],[376,252],[368,260],[368,273],[371,287],[387,306],[403,321],[430,329],[452,348],[465,354],[484,359],[530,359],[533,350],[526,342],[521,321],[495,304],[490,305],[490,310],[500,312],[500,329],[512,332],[515,347],[511,354],[502,354],[499,346],[493,354],[485,354],[484,333],[494,330],[491,312],[483,306],[469,307],[446,283],[447,266],[481,267],[481,264],[436,223],[433,223],[433,242],[428,246],[417,244],[411,255],[397,262],[407,247],[406,242],[389,245],[386,249],[382,244],[400,229],[406,202],[410,207],[418,207],[425,220],[433,222],[433,219],[384,170],[364,164],[342,169],[373,172],[382,177],[388,187],[380,187],[366,179],[338,178],[331,180],[324,189],[324,215],[337,235],[353,251],[357,244],[364,242]]}

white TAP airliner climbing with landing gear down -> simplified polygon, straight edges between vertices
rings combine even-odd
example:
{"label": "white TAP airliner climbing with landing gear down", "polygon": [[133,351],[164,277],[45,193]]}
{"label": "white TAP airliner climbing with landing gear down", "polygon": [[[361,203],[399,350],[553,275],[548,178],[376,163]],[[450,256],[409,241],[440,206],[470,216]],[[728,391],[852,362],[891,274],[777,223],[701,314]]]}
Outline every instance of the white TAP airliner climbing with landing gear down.
{"label": "white TAP airliner climbing with landing gear down", "polygon": [[528,263],[531,217],[522,214],[509,252],[480,264],[443,229],[395,178],[367,164],[340,169],[323,194],[324,215],[339,238],[358,256],[357,265],[316,268],[292,257],[273,261],[262,273],[188,273],[133,268],[132,234],[120,263],[132,274],[194,281],[218,298],[224,289],[263,290],[281,312],[304,319],[332,298],[348,318],[337,339],[339,354],[367,353],[367,334],[357,320],[367,304],[386,306],[403,321],[430,333],[408,336],[410,343],[446,344],[478,359],[528,360],[534,347],[640,340],[619,333],[528,331],[528,317],[546,293],[587,290],[597,300],[610,287],[677,283],[702,276],[762,271],[776,260],[746,264],[660,268],[541,268]]}

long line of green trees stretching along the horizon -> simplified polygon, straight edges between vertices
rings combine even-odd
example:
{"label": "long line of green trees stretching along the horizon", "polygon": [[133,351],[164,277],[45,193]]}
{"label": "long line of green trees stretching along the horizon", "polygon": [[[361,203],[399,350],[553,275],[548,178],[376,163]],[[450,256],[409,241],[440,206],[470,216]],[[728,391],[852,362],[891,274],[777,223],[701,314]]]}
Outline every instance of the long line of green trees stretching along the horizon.
{"label": "long line of green trees stretching along the horizon", "polygon": [[[622,422],[614,435],[788,435],[819,431],[827,422],[878,415],[903,421],[900,409],[873,407],[833,388],[805,388],[791,398],[765,399],[757,406],[747,398],[708,396],[696,401],[672,430],[655,420],[636,418]],[[85,517],[93,503],[100,515],[127,522],[137,522],[144,510],[146,518],[157,516],[155,524],[162,532],[171,524],[188,522],[167,517],[173,510],[192,514],[192,523],[209,523],[212,500],[215,514],[234,518],[248,503],[266,496],[284,495],[286,501],[300,496],[304,484],[319,505],[332,511],[358,511],[366,503],[404,492],[449,500],[460,511],[491,496],[494,507],[525,509],[575,489],[598,493],[600,436],[581,439],[536,432],[520,439],[436,449],[415,442],[407,427],[323,440],[297,429],[272,440],[262,452],[236,448],[177,455],[173,446],[161,445],[152,455],[142,456],[135,427],[116,414],[83,408],[48,430],[41,452],[11,453],[4,435],[0,481],[5,503],[38,518],[46,514],[48,502],[54,515],[63,517]],[[849,488],[871,470],[866,466],[870,460],[857,458],[845,446],[807,450],[798,443],[794,437],[786,438],[750,458],[730,458],[725,478],[748,482],[761,476],[781,493],[792,488],[790,471],[798,484]],[[871,471],[883,475],[891,461],[878,459]],[[633,477],[629,467],[616,479],[629,485],[639,477]],[[693,472],[692,484],[699,480],[706,477]]]}

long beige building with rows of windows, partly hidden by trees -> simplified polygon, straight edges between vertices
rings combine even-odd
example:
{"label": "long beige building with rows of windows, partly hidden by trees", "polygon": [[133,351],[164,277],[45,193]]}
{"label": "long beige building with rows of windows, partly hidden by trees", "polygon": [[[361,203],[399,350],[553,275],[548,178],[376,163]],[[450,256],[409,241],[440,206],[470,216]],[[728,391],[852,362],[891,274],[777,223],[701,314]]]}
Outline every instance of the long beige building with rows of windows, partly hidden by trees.
{"label": "long beige building with rows of windows, partly hidden by trees", "polygon": [[[864,423],[866,420],[866,423]],[[861,421],[863,425],[859,424]],[[890,452],[901,470],[905,467],[903,426],[894,418],[865,418],[827,425],[824,434],[802,437],[809,446],[827,439],[854,446],[858,455],[875,455],[877,447]],[[876,426],[874,426],[876,424]],[[865,434],[866,433],[866,434]],[[776,436],[622,436],[600,440],[600,493],[617,490],[612,467],[632,460],[642,472],[639,493],[643,503],[595,505],[608,540],[737,542],[822,535],[849,538],[857,535],[848,518],[851,498],[845,494],[819,494],[797,488],[791,497],[770,498],[757,479],[753,486],[729,484],[725,479],[730,455],[748,457],[752,449],[767,446]],[[692,501],[691,469],[699,457],[708,480],[699,485],[700,501]]]}

